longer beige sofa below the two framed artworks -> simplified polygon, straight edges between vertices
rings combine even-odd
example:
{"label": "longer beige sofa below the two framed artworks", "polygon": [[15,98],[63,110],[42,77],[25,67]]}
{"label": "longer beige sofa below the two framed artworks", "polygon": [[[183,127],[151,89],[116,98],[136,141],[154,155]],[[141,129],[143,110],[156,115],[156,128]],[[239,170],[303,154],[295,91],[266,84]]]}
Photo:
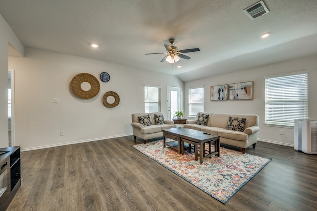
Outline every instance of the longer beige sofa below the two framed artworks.
{"label": "longer beige sofa below the two framed artworks", "polygon": [[[203,115],[209,116],[206,119]],[[230,116],[231,123],[229,123]],[[205,123],[203,123],[203,120],[205,120]],[[245,122],[243,123],[244,120]],[[258,124],[259,117],[257,115],[197,113],[196,119],[187,120],[186,124],[184,124],[184,127],[201,130],[213,135],[220,135],[220,143],[241,147],[242,153],[244,154],[247,147],[252,145],[253,148],[255,148],[256,146],[257,132],[260,129]]]}

